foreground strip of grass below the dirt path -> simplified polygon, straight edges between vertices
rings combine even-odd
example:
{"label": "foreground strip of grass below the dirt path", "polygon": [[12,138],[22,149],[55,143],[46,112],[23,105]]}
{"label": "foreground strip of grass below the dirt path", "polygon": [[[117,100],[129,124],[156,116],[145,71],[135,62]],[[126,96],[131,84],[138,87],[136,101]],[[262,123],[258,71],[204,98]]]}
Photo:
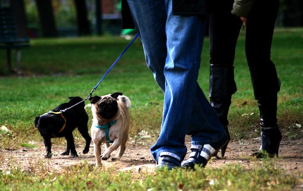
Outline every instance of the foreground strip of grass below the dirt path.
{"label": "foreground strip of grass below the dirt path", "polygon": [[10,164],[1,173],[2,190],[293,190],[302,183],[286,174],[271,160],[252,161],[248,165],[221,168],[156,170],[153,173],[118,171],[114,168],[93,170],[86,162],[58,172],[38,161],[27,171]]}

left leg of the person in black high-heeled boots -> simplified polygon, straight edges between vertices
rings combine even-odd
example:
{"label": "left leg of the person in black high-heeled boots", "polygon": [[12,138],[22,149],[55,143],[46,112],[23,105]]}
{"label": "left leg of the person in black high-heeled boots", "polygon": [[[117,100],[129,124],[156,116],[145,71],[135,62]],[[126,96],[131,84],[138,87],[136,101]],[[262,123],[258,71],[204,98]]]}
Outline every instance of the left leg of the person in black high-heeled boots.
{"label": "left leg of the person in black high-heeled boots", "polygon": [[[211,106],[223,124],[229,139],[227,115],[231,96],[237,91],[233,62],[238,35],[242,27],[239,17],[231,14],[233,2],[234,0],[220,1],[222,6],[218,6],[209,16],[209,97]],[[221,149],[221,158],[224,158],[227,145],[228,142]]]}

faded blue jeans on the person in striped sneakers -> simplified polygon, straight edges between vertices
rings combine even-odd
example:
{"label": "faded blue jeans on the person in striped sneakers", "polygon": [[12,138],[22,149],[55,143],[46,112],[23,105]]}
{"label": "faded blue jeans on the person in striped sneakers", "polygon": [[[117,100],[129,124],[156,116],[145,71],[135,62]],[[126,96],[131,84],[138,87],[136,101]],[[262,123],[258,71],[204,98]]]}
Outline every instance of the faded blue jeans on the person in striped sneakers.
{"label": "faded blue jeans on the person in striped sneakers", "polygon": [[151,147],[183,161],[185,135],[192,145],[212,144],[226,136],[197,83],[206,19],[174,16],[171,0],[128,0],[148,68],[165,93],[161,132]]}

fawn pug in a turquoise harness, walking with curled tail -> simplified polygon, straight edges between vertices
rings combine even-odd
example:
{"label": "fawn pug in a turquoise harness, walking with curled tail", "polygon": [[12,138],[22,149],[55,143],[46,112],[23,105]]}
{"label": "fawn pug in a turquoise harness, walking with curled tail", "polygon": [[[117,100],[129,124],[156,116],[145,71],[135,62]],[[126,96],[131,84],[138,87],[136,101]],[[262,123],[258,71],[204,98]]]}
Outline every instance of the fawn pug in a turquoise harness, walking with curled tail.
{"label": "fawn pug in a turquoise harness, walking with curled tail", "polygon": [[[131,102],[128,97],[120,92],[104,96],[94,96],[89,99],[92,111],[91,138],[93,141],[95,167],[101,167],[101,159],[107,160],[113,151],[120,147],[120,151],[112,160],[119,160],[126,147],[129,130],[129,107]],[[101,154],[101,144],[105,143],[105,152]],[[110,145],[112,143],[112,145]]]}

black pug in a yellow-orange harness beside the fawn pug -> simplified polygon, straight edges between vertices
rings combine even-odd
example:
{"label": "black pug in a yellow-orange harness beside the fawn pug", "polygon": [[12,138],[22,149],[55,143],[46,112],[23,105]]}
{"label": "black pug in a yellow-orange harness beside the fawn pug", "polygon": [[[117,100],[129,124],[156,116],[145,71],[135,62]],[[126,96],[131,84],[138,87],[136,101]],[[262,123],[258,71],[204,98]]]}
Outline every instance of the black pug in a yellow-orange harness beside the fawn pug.
{"label": "black pug in a yellow-orange harness beside the fawn pug", "polygon": [[[83,150],[83,154],[88,153],[91,137],[88,134],[87,122],[88,115],[84,109],[84,102],[80,103],[82,99],[80,97],[70,97],[68,103],[59,105],[52,111],[49,111],[43,115],[37,116],[34,124],[39,130],[40,135],[44,139],[44,145],[46,149],[45,158],[52,158],[52,142],[51,138],[65,137],[67,141],[66,151],[61,155],[69,155],[71,152],[72,157],[78,157],[73,130],[78,127],[79,132],[86,140],[86,145]],[[66,108],[69,108],[77,103],[80,103],[65,112],[60,112]]]}

